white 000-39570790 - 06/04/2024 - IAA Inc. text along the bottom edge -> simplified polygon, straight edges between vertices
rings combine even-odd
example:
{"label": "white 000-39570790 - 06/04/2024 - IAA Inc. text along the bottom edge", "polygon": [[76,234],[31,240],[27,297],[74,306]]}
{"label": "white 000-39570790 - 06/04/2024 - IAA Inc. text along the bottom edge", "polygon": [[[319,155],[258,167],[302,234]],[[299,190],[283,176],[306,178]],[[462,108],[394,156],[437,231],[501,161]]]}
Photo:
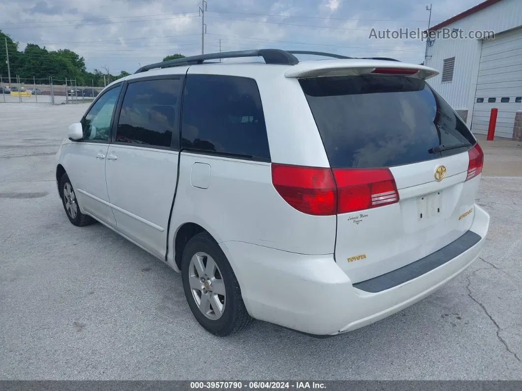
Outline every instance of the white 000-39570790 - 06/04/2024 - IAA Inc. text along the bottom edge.
{"label": "white 000-39570790 - 06/04/2024 - IAA Inc. text along the bottom edge", "polygon": [[318,382],[191,382],[191,389],[326,389]]}

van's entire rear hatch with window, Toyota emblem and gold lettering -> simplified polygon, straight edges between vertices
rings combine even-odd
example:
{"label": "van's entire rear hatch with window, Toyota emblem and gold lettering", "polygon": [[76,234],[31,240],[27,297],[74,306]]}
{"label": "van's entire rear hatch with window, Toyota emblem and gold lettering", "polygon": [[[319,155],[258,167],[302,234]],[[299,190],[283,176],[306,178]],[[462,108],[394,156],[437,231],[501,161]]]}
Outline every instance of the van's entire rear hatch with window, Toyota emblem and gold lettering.
{"label": "van's entire rear hatch with window, Toyota emblem and gold lettering", "polygon": [[337,186],[335,258],[354,283],[440,250],[473,220],[482,151],[413,73],[298,77]]}

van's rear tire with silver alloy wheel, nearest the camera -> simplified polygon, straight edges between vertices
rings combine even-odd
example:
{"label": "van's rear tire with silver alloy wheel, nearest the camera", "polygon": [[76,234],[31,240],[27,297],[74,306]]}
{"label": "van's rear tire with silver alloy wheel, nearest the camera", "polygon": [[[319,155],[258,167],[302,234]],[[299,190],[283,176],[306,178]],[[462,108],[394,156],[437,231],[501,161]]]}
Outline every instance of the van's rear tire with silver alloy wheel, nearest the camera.
{"label": "van's rear tire with silver alloy wheel, nearest the camera", "polygon": [[[252,323],[254,319],[246,311],[234,271],[210,234],[194,235],[183,250],[181,262],[188,306],[209,333],[225,337]],[[210,270],[214,270],[213,274]]]}

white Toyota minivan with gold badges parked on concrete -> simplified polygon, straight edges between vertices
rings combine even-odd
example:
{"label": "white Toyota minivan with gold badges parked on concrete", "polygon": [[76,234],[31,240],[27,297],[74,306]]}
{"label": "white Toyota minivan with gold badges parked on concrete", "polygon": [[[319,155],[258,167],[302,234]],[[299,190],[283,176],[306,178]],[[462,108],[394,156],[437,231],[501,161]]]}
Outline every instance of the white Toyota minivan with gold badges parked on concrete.
{"label": "white Toyota minivan with gold badges parked on concrete", "polygon": [[99,221],[180,271],[215,335],[253,318],[344,333],[442,287],[488,232],[483,152],[436,74],[276,49],[147,65],[70,125],[58,192],[76,226]]}

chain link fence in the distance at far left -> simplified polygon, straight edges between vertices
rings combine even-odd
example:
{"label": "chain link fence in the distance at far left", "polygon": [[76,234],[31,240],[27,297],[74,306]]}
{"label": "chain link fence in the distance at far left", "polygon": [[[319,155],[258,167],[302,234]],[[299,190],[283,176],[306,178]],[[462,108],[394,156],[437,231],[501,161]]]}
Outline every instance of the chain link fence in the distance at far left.
{"label": "chain link fence in the distance at far left", "polygon": [[0,103],[77,104],[91,102],[103,87],[78,86],[75,79],[0,75]]}

